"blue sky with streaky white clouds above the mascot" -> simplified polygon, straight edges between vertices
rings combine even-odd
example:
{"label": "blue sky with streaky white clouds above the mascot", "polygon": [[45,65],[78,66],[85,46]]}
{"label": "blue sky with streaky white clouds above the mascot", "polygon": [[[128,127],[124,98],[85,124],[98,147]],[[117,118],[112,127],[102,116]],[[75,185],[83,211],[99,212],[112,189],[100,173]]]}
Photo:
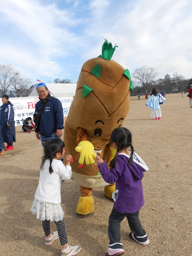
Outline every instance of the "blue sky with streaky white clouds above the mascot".
{"label": "blue sky with streaky white clouds above the mascot", "polygon": [[77,82],[106,38],[131,74],[146,66],[192,78],[191,13],[191,0],[1,0],[0,64],[33,83]]}

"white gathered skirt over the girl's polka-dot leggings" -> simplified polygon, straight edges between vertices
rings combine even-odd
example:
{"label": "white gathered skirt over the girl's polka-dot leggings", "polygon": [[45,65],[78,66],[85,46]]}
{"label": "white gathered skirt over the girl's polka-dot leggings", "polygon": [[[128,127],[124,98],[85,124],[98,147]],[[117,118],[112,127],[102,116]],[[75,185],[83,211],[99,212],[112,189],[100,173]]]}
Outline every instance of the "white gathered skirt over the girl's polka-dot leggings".
{"label": "white gathered skirt over the girl's polka-dot leggings", "polygon": [[46,203],[39,201],[36,198],[31,206],[31,212],[37,215],[37,219],[56,222],[62,220],[64,215],[60,203]]}

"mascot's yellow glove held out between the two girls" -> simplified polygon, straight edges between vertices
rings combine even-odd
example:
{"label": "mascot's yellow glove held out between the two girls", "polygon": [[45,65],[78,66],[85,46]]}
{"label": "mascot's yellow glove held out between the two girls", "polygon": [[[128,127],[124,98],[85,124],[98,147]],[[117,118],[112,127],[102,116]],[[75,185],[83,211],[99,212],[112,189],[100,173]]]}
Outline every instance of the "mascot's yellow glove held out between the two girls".
{"label": "mascot's yellow glove held out between the two girls", "polygon": [[78,146],[76,146],[75,150],[80,152],[79,164],[82,165],[85,159],[85,164],[95,164],[93,158],[96,157],[94,153],[94,146],[89,141],[81,141]]}

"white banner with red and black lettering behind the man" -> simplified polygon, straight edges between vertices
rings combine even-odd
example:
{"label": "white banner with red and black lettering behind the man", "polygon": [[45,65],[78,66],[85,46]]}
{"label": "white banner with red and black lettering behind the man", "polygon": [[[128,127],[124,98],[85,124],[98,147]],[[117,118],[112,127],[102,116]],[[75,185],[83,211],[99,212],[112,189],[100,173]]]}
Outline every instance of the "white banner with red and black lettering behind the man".
{"label": "white banner with red and black lettering behind the man", "polygon": [[[55,97],[61,101],[63,106],[64,117],[67,117],[71,102],[73,101],[73,96],[67,97]],[[14,121],[15,126],[23,125],[23,121],[27,117],[33,119],[33,114],[35,112],[36,103],[39,101],[38,96],[34,97],[20,97],[20,98],[9,98],[9,101],[13,104],[14,108]]]}

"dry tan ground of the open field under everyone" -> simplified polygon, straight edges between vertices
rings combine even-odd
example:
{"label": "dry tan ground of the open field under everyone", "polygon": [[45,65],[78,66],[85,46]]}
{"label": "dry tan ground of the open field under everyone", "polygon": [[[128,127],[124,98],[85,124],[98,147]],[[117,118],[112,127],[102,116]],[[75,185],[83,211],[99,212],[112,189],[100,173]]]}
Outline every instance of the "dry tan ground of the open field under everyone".
{"label": "dry tan ground of the open field under everyone", "polygon": [[[141,246],[128,238],[128,223],[121,224],[121,242],[128,255],[192,255],[191,250],[191,130],[192,108],[184,94],[168,94],[161,107],[161,120],[150,118],[151,109],[131,97],[124,126],[133,135],[135,152],[149,167],[142,180],[145,205],[140,220],[150,240]],[[41,221],[30,212],[38,185],[42,146],[34,131],[16,127],[14,150],[0,156],[0,255],[61,255],[59,239],[44,245]],[[108,248],[108,216],[113,202],[94,189],[95,212],[77,218],[79,187],[73,181],[61,184],[64,220],[71,245],[80,244],[79,256],[104,256]],[[52,231],[55,224],[51,223]]]}

